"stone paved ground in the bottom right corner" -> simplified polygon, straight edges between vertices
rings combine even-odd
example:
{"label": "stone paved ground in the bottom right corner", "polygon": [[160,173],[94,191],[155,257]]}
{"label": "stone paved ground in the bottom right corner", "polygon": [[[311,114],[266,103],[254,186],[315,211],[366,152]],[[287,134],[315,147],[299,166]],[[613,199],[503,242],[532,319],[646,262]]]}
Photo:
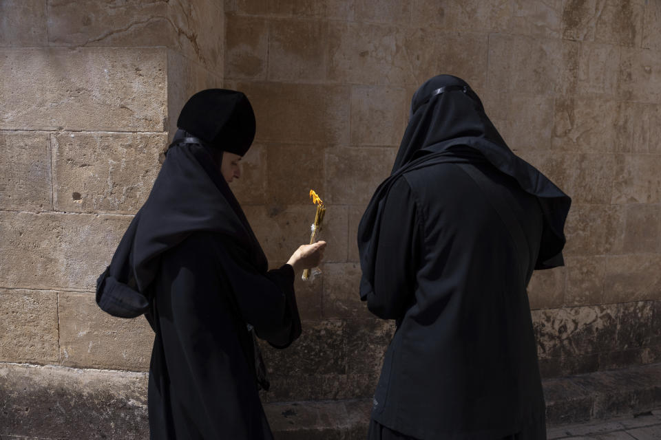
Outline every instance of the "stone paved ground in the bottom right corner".
{"label": "stone paved ground in the bottom right corner", "polygon": [[559,426],[548,440],[661,440],[661,408],[636,417]]}

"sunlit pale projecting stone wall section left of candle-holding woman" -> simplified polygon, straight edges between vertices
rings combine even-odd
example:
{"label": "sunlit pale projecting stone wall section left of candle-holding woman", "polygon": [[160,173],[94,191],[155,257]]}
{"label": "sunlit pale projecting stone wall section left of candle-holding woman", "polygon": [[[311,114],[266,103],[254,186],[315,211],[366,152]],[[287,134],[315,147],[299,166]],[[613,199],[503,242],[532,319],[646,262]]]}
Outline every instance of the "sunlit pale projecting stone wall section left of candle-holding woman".
{"label": "sunlit pale projecting stone wall section left of candle-holding woman", "polygon": [[223,56],[215,0],[0,2],[0,364],[148,368],[149,325],[98,309],[96,276]]}

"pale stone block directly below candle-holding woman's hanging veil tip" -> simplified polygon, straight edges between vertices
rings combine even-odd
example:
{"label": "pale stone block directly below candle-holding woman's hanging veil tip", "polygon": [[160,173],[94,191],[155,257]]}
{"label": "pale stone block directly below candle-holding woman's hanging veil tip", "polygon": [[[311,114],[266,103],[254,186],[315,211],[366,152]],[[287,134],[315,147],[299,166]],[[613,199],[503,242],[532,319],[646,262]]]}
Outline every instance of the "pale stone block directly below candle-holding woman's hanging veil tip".
{"label": "pale stone block directly below candle-holding woman's hanging veil tip", "polygon": [[60,358],[65,366],[147,371],[154,331],[140,316],[115,318],[94,294],[59,295]]}

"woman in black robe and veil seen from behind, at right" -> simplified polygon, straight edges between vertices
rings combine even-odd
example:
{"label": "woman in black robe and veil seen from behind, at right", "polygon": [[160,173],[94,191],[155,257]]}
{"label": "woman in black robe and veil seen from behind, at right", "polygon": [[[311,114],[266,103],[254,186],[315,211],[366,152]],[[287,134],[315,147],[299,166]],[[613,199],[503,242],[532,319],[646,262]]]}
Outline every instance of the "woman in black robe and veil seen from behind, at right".
{"label": "woman in black robe and veil seen from behind, at right", "polygon": [[563,265],[571,200],[507,147],[478,96],[436,76],[358,230],[360,297],[396,320],[370,439],[545,439],[526,287]]}

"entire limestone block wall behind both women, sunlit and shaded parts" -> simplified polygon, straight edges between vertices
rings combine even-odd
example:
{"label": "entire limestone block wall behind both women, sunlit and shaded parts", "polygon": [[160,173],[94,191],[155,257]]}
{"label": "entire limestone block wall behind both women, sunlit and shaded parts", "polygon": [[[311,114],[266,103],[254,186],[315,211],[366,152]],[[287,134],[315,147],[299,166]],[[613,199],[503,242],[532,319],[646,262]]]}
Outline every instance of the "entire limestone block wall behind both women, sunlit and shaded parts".
{"label": "entire limestone block wall behind both women, sunlit and shaded parts", "polygon": [[[302,338],[265,347],[264,399],[369,397],[392,323],[358,300],[357,224],[410,96],[440,73],[468,80],[512,149],[574,199],[567,266],[529,286],[543,375],[660,362],[658,1],[2,0],[0,382],[12,394],[0,394],[12,426],[31,423],[17,409],[23,375],[42,377],[30,401],[57,392],[50,375],[85,395],[85,369],[144,388],[120,371],[146,371],[151,329],[103,314],[94,282],[182,103],[205,87],[253,102],[258,133],[232,188],[271,266],[308,239],[310,188],[328,208],[324,274],[297,281]],[[140,386],[121,393],[135,403]]]}

